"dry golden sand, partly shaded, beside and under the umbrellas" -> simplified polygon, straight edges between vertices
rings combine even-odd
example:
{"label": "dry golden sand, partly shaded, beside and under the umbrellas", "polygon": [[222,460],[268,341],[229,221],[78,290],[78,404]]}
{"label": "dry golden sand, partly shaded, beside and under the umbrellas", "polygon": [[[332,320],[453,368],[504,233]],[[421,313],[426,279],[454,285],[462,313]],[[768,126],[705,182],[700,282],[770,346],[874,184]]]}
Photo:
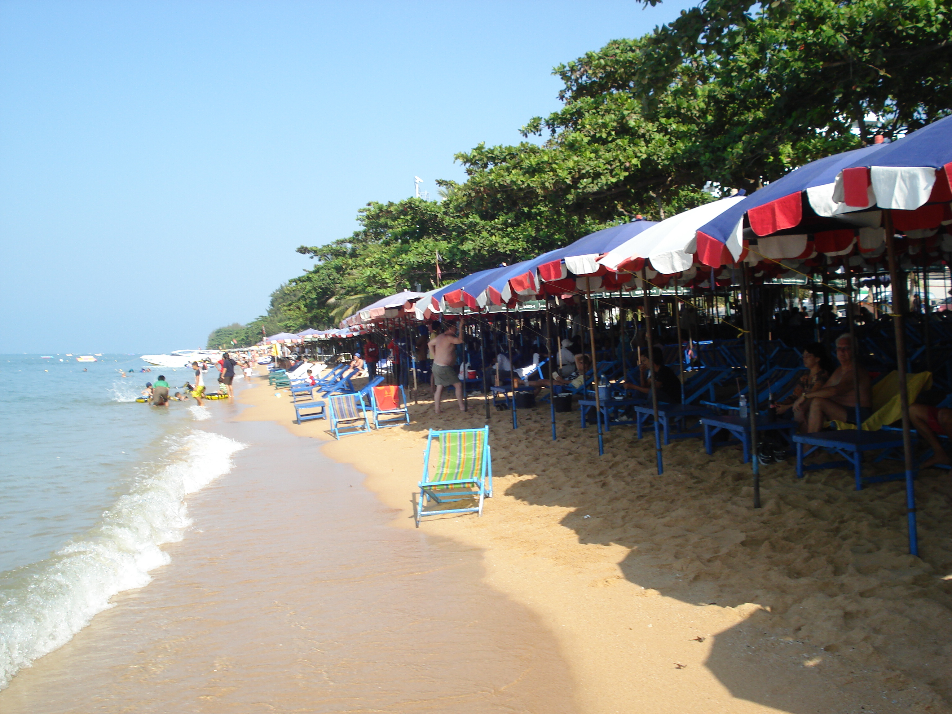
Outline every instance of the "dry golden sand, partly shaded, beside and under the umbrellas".
{"label": "dry golden sand, partly shaded, beside and under the umbrellas", "polygon": [[[421,390],[423,391],[423,390]],[[328,440],[293,423],[267,386],[243,419]],[[483,426],[482,398],[411,406],[407,426],[325,446],[413,527],[426,428]],[[482,518],[426,519],[427,532],[484,551],[486,580],[526,605],[561,645],[580,711],[952,712],[952,539],[947,472],[918,485],[922,559],[905,554],[902,485],[852,489],[843,470],[750,466],[700,440],[664,447],[616,427],[599,457],[578,411],[489,421],[495,496]],[[893,466],[895,469],[895,466]]]}

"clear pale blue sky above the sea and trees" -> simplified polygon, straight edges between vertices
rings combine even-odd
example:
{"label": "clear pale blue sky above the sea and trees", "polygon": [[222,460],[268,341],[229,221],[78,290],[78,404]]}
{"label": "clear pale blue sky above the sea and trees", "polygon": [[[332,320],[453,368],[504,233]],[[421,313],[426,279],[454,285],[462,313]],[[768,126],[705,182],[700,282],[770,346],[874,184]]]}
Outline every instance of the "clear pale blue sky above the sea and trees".
{"label": "clear pale blue sky above the sea and trees", "polygon": [[0,0],[0,353],[204,347],[694,4]]}

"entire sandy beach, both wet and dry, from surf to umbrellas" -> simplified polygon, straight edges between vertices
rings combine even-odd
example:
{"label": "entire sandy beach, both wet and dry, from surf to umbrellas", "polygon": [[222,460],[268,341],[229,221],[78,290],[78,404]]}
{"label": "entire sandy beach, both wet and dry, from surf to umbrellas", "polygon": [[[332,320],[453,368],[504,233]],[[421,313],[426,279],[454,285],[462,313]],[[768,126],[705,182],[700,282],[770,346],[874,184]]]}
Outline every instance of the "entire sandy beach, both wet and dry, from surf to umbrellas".
{"label": "entire sandy beach, both wet and dry, from surf to umbrellas", "polygon": [[482,426],[482,399],[334,441],[279,394],[209,407],[248,447],[189,497],[170,565],[22,670],[5,714],[952,712],[945,474],[919,482],[919,560],[901,485],[768,466],[754,510],[729,446],[667,446],[659,477],[633,430],[599,458],[578,411],[554,443],[545,407],[493,412],[483,517],[418,530],[426,428]]}

